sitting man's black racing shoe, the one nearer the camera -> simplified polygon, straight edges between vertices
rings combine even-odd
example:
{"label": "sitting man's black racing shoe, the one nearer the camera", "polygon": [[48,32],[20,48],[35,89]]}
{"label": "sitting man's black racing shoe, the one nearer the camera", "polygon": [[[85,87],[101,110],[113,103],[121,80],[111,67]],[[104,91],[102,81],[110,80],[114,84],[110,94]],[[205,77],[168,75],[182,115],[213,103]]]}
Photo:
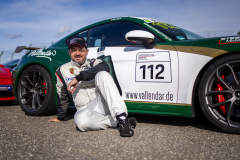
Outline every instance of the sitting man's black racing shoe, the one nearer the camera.
{"label": "sitting man's black racing shoe, the one nearer the camera", "polygon": [[131,119],[121,119],[119,120],[119,132],[122,137],[132,137],[134,135],[134,131],[132,130]]}

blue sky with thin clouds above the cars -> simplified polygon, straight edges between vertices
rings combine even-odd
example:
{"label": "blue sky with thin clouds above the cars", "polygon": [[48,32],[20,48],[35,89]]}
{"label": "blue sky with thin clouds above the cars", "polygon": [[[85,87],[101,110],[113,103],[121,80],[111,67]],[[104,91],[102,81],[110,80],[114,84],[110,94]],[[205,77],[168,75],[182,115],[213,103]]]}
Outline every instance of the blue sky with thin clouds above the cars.
{"label": "blue sky with thin clouds above the cars", "polygon": [[123,16],[159,19],[195,33],[235,33],[240,0],[0,0],[0,52],[49,45],[86,25]]}

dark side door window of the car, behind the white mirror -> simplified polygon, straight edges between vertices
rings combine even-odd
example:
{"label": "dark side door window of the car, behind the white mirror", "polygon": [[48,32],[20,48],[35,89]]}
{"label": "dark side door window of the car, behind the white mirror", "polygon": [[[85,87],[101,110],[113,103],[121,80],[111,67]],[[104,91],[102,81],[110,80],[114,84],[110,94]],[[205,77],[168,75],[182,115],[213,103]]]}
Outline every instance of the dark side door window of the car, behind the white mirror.
{"label": "dark side door window of the car, behind the white mirror", "polygon": [[[146,31],[143,27],[130,22],[115,22],[91,28],[89,30],[89,47],[136,45],[125,39],[126,33],[133,30]],[[156,40],[160,41],[157,37]]]}

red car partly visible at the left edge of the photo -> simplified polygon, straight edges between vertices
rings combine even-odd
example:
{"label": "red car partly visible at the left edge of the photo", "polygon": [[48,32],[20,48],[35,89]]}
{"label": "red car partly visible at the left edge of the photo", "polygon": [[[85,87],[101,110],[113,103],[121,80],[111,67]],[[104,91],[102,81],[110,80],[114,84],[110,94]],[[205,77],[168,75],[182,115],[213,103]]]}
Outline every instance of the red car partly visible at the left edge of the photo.
{"label": "red car partly visible at the left edge of the photo", "polygon": [[17,65],[19,59],[0,64],[0,101],[13,102],[11,69]]}

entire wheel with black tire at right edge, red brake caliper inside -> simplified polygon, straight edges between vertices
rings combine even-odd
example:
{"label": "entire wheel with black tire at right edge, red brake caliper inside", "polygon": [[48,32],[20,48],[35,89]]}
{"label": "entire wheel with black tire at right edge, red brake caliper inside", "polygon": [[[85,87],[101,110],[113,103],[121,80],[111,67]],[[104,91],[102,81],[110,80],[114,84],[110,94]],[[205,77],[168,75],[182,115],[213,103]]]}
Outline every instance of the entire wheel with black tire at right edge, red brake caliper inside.
{"label": "entire wheel with black tire at right edge, red brake caliper inside", "polygon": [[206,118],[229,133],[240,133],[240,55],[213,62],[199,85],[199,102]]}

